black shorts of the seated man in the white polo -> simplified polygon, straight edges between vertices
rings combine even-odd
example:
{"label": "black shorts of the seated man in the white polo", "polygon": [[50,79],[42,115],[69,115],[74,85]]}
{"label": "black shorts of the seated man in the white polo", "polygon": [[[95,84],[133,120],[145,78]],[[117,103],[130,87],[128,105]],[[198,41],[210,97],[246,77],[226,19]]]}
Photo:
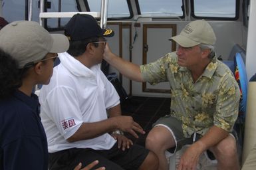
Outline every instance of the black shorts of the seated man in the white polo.
{"label": "black shorts of the seated man in the white polo", "polygon": [[74,169],[79,162],[84,167],[92,161],[98,160],[99,163],[94,169],[106,167],[108,170],[134,170],[140,167],[147,155],[148,149],[136,144],[125,151],[118,149],[117,143],[109,150],[72,148],[49,153],[49,169],[70,170]]}

